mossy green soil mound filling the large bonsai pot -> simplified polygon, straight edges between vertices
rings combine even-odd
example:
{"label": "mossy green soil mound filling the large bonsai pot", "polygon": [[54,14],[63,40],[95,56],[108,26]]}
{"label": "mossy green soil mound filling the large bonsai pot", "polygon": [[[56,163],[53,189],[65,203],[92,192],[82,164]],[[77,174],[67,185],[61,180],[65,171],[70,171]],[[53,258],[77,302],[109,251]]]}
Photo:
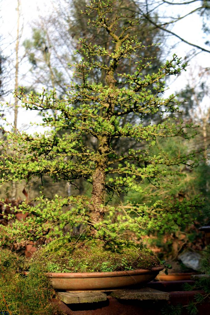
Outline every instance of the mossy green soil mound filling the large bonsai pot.
{"label": "mossy green soil mound filling the large bonsai pot", "polygon": [[160,266],[149,249],[134,242],[104,243],[99,239],[54,240],[32,258],[48,272],[109,272]]}

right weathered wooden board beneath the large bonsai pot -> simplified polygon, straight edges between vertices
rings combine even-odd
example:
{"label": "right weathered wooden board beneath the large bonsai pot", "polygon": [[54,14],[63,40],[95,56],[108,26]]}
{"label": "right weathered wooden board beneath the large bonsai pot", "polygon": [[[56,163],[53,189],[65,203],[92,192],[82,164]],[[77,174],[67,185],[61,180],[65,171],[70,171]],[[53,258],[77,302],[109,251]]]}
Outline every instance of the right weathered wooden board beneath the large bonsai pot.
{"label": "right weathered wooden board beneath the large bonsai pot", "polygon": [[120,300],[166,300],[169,301],[171,295],[167,292],[142,288],[137,290],[117,290],[110,294],[111,296]]}

